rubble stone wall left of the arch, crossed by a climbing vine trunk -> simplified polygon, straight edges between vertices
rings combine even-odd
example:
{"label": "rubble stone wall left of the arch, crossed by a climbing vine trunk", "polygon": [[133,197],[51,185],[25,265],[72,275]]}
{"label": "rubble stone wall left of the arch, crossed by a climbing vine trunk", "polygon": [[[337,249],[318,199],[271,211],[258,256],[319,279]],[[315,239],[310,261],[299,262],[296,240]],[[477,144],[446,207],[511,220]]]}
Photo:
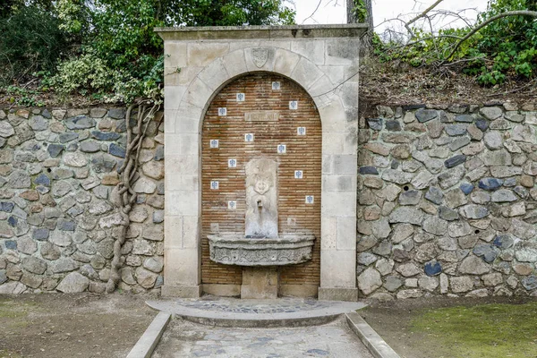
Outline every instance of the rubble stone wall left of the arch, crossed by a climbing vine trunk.
{"label": "rubble stone wall left of the arch, crossed by a climbing vine trunk", "polygon": [[[109,200],[125,147],[124,108],[0,109],[0,294],[102,293],[117,209]],[[119,285],[162,285],[164,134],[149,125]]]}

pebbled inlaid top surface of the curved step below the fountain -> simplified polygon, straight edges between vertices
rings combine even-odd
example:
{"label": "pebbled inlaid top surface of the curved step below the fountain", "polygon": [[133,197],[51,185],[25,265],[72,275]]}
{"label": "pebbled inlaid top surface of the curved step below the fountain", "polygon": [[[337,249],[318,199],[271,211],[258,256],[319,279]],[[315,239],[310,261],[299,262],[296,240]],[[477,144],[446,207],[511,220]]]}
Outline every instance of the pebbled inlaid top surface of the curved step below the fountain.
{"label": "pebbled inlaid top surface of the curved step below the fountain", "polygon": [[256,303],[254,300],[248,300],[245,303],[244,300],[222,299],[212,296],[196,301],[177,300],[176,302],[184,307],[204,311],[240,313],[283,313],[311,311],[330,307],[331,304],[313,299],[301,300],[297,298],[278,298],[277,300],[270,301],[270,303],[267,303],[267,300],[260,300],[259,303]]}

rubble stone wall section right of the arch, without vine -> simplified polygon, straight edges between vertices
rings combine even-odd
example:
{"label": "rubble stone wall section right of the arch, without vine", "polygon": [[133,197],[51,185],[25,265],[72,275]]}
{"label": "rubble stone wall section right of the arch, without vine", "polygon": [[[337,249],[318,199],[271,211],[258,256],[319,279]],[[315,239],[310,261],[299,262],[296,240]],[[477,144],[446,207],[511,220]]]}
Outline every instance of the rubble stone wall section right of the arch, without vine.
{"label": "rubble stone wall section right of the arch, without vine", "polygon": [[358,154],[358,286],[537,294],[537,108],[377,107]]}

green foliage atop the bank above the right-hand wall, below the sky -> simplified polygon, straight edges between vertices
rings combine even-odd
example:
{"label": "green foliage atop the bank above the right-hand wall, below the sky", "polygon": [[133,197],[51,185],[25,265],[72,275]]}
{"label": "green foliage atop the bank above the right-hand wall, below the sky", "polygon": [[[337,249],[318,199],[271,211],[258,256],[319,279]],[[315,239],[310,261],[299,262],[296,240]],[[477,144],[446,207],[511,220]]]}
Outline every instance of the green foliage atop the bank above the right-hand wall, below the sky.
{"label": "green foliage atop the bank above the right-hand wall, below the sky", "polygon": [[[491,0],[487,11],[478,17],[477,25],[499,13],[515,10],[537,10],[532,0]],[[533,78],[537,71],[537,21],[531,16],[507,16],[479,30],[458,47],[451,58],[446,56],[469,31],[462,29],[430,31],[413,29],[410,44],[398,41],[375,42],[381,61],[398,60],[412,66],[457,62],[462,71],[475,76],[482,85],[501,84],[507,79]]]}

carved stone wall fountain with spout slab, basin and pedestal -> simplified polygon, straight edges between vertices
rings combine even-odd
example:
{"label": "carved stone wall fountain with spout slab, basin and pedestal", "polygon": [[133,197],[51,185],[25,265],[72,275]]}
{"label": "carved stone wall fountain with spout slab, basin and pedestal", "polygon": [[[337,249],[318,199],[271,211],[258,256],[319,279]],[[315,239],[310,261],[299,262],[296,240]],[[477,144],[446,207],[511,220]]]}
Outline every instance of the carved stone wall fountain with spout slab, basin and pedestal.
{"label": "carved stone wall fountain with spout slab, basin and pedestal", "polygon": [[243,269],[243,298],[275,298],[277,266],[311,260],[312,234],[279,234],[277,162],[254,158],[246,164],[244,233],[209,234],[210,260]]}

